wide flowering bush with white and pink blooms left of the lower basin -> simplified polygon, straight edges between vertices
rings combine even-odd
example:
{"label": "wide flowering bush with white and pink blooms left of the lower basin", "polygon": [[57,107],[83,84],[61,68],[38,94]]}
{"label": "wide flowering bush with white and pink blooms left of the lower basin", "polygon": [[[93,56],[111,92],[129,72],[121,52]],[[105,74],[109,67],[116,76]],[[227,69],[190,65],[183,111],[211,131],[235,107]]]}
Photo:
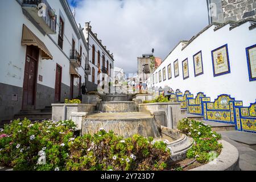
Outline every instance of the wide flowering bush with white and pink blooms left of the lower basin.
{"label": "wide flowering bush with white and pink blooms left of the lower basin", "polygon": [[0,166],[15,170],[163,170],[170,159],[164,142],[101,129],[75,137],[72,121],[15,120],[0,129]]}

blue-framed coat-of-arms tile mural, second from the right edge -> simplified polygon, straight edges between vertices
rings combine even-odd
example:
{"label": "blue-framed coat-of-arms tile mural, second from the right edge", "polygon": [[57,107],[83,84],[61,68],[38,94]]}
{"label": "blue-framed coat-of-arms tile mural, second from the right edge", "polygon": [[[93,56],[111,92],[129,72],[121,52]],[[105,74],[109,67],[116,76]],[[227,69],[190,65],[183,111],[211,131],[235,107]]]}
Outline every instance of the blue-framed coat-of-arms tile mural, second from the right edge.
{"label": "blue-framed coat-of-arms tile mural, second from the right edge", "polygon": [[228,44],[212,51],[212,64],[214,77],[230,73]]}

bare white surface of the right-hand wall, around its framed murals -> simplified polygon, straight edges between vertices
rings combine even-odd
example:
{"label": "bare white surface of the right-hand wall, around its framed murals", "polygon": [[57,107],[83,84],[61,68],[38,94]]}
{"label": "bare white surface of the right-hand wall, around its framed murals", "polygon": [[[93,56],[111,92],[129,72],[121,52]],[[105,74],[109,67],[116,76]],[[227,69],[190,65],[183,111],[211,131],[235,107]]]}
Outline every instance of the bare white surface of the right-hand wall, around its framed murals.
{"label": "bare white surface of the right-hand wall, around its framed murals", "polygon": [[[205,31],[202,31],[195,39],[189,41],[187,46],[180,42],[177,47],[171,51],[158,69],[148,78],[153,87],[165,85],[172,89],[180,89],[181,92],[189,90],[194,96],[198,92],[204,92],[212,101],[220,94],[230,94],[236,100],[243,101],[244,106],[249,106],[255,102],[256,81],[249,80],[249,72],[246,59],[246,48],[253,46],[256,42],[256,29],[249,30],[251,23],[249,21],[232,28],[232,24],[226,24],[214,31],[217,25],[210,25]],[[212,53],[214,49],[228,44],[230,73],[220,76],[213,76]],[[193,55],[202,52],[203,75],[194,74]],[[182,61],[188,59],[189,77],[183,79]],[[179,61],[179,76],[174,76],[174,61]],[[172,78],[168,79],[168,65],[171,64]],[[166,80],[159,82],[158,73],[166,68]],[[153,75],[157,75],[157,83],[152,82]],[[156,80],[156,79],[155,79]]]}

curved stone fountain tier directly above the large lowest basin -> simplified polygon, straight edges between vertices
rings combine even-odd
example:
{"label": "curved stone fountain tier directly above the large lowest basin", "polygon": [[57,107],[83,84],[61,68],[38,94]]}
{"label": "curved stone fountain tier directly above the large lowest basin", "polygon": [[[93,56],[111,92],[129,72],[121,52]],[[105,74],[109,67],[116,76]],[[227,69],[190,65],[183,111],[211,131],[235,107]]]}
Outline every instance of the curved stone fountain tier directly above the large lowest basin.
{"label": "curved stone fountain tier directly above the large lowest basin", "polygon": [[138,108],[133,101],[101,102],[98,110],[102,113],[127,113],[136,112]]}

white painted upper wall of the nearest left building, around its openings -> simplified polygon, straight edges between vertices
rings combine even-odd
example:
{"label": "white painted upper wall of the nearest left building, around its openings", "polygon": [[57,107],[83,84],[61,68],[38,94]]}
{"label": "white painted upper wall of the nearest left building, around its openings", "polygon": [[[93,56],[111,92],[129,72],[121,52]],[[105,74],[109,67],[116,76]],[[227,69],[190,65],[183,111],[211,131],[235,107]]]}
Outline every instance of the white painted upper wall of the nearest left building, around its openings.
{"label": "white painted upper wall of the nearest left building, around its openings", "polygon": [[[53,60],[42,60],[39,57],[38,75],[43,76],[43,81],[38,80],[38,84],[55,88],[55,74],[56,63],[62,67],[62,79],[61,81],[65,85],[70,85],[69,75],[69,52],[72,47],[72,38],[75,38],[76,49],[80,50],[82,46],[82,67],[78,69],[79,74],[82,77],[82,83],[85,82],[84,68],[85,68],[85,56],[87,56],[85,45],[81,39],[76,36],[71,23],[69,22],[67,14],[60,1],[48,0],[52,9],[55,9],[57,15],[57,25],[55,35],[44,36],[35,26],[26,18],[22,13],[22,7],[15,1],[0,1],[0,22],[3,27],[0,34],[0,47],[1,47],[1,67],[0,67],[0,82],[14,85],[23,86],[24,77],[24,61],[26,56],[26,46],[21,46],[22,40],[22,26],[23,23],[46,45],[53,56]],[[59,35],[59,18],[61,14],[64,16],[64,42],[63,51],[57,46],[57,40]],[[53,41],[49,38],[51,37]],[[80,52],[80,51],[79,51]],[[75,80],[76,85],[78,81]]]}

